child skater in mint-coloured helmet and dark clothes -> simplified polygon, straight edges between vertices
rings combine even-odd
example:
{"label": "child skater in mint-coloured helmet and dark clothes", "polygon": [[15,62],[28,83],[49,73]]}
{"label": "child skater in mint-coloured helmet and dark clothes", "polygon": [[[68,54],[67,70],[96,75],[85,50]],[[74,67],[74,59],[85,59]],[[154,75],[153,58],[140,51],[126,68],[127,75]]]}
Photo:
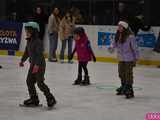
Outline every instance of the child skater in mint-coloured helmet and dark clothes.
{"label": "child skater in mint-coloured helmet and dark clothes", "polygon": [[24,106],[39,106],[39,98],[35,84],[44,93],[48,107],[53,107],[56,100],[48,86],[44,83],[46,62],[43,55],[43,43],[38,38],[39,25],[36,22],[25,24],[27,45],[19,65],[24,66],[24,62],[29,58],[30,68],[28,70],[26,84],[29,92],[29,99],[24,101]]}

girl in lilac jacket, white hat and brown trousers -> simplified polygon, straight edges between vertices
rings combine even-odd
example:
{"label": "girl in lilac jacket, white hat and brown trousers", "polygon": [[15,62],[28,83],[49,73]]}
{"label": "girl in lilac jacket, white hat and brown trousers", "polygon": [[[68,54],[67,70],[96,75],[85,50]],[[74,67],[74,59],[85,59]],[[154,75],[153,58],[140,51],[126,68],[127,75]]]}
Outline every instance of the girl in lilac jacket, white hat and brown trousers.
{"label": "girl in lilac jacket, white hat and brown trousers", "polygon": [[117,89],[117,95],[125,95],[126,98],[133,98],[133,67],[139,57],[136,37],[130,31],[128,23],[120,21],[115,36],[115,41],[110,49],[117,48],[118,73],[121,86]]}

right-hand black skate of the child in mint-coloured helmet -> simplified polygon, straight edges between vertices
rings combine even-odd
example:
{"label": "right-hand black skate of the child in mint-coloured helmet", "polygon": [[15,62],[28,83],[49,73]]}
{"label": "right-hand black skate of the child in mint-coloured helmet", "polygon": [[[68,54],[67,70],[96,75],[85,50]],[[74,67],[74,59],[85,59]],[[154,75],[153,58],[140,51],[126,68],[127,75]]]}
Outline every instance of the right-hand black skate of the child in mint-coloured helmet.
{"label": "right-hand black skate of the child in mint-coloured helmet", "polygon": [[54,107],[54,105],[57,103],[55,97],[52,94],[48,95],[46,99],[49,108]]}

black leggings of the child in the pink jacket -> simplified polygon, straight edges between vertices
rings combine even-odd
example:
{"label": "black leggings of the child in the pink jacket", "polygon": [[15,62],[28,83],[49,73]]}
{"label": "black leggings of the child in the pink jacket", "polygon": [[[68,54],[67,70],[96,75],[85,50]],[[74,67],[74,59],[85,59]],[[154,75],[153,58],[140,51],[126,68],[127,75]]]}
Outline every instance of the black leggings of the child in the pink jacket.
{"label": "black leggings of the child in the pink jacket", "polygon": [[88,62],[79,62],[78,75],[82,76],[82,69],[83,69],[85,76],[88,76],[87,64],[88,64]]}

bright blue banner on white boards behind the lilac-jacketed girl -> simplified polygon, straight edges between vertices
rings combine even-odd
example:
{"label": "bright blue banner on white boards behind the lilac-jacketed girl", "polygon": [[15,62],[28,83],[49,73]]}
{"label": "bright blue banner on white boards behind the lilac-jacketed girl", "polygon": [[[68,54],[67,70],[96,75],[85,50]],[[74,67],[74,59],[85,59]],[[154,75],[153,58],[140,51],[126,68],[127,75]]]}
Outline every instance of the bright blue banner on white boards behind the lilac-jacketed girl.
{"label": "bright blue banner on white boards behind the lilac-jacketed girl", "polygon": [[[108,47],[111,41],[114,40],[115,33],[111,32],[98,32],[97,44],[99,47]],[[140,33],[137,35],[137,44],[139,47],[154,48],[156,37],[153,33]]]}

